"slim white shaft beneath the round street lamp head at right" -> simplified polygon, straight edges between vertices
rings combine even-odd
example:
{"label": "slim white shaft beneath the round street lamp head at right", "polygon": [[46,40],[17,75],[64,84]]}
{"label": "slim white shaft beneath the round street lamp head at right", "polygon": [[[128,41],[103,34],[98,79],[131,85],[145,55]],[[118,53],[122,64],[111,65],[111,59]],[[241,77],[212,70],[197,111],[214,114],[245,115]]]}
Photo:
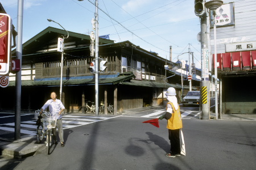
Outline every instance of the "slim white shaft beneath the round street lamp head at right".
{"label": "slim white shaft beneath the round street lamp head at right", "polygon": [[215,78],[215,116],[218,119],[218,83],[217,83],[217,44],[216,44],[216,24],[215,24],[215,11],[213,15],[213,33],[214,33],[214,78]]}

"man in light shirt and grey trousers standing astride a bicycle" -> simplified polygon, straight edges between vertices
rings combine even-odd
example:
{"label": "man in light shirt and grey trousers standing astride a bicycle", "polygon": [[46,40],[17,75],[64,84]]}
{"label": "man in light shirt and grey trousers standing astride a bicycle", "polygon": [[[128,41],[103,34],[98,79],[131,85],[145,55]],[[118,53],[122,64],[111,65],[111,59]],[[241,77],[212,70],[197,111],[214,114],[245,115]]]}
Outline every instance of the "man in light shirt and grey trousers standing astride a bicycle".
{"label": "man in light shirt and grey trousers standing astride a bicycle", "polygon": [[[62,117],[61,117],[61,113],[64,111],[65,107],[59,99],[56,99],[57,95],[55,92],[52,92],[50,97],[51,99],[47,100],[46,104],[44,104],[43,107],[40,109],[40,114],[42,114],[47,107],[49,107],[49,112],[51,114],[53,115],[57,114],[56,116],[58,116],[58,118],[57,118],[56,126],[59,130],[60,143],[61,143],[61,146],[65,146],[64,139],[63,139],[63,128],[62,128]],[[55,145],[57,145],[58,142],[56,139],[56,128],[52,129],[52,134],[53,134],[53,140],[55,142]]]}

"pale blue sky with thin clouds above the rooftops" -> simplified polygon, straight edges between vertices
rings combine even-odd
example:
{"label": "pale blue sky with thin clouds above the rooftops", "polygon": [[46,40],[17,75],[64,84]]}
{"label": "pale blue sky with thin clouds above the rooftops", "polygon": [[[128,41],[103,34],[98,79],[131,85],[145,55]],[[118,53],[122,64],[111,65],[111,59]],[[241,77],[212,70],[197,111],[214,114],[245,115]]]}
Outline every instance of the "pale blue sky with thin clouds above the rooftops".
{"label": "pale blue sky with thin clouds above the rooftops", "polygon": [[[67,31],[88,35],[92,31],[91,20],[95,12],[95,6],[90,2],[94,3],[93,0],[24,0],[23,42],[49,26],[62,29],[58,24],[48,22],[48,18],[60,23]],[[1,0],[1,3],[16,28],[18,0]],[[201,45],[197,41],[200,20],[194,12],[194,1],[98,0],[98,6],[99,35],[109,34],[115,42],[129,40],[167,59],[172,46],[173,62],[177,61],[177,55],[188,52],[188,44],[191,44],[196,67],[201,68]],[[188,60],[188,53],[179,59]]]}

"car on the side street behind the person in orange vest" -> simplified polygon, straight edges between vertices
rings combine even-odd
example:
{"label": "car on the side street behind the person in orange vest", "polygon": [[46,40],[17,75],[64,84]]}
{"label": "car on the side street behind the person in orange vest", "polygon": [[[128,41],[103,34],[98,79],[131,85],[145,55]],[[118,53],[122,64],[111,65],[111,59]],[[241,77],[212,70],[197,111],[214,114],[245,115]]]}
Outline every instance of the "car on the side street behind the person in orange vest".
{"label": "car on the side street behind the person in orange vest", "polygon": [[182,104],[184,107],[187,105],[200,105],[200,91],[189,91],[188,94],[183,97]]}

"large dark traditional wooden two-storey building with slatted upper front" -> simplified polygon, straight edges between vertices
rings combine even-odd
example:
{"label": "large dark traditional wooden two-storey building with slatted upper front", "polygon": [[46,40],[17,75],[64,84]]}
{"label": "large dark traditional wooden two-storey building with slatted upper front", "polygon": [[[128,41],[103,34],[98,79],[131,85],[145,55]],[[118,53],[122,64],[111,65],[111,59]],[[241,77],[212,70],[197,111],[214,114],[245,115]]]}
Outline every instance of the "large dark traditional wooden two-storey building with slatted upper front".
{"label": "large dark traditional wooden two-storey building with slatted upper front", "polygon": [[[39,109],[52,91],[59,94],[61,53],[57,52],[57,38],[65,33],[48,27],[23,44],[22,109]],[[89,63],[94,59],[90,57],[90,36],[69,32],[64,45],[62,101],[67,112],[82,112],[86,100],[95,100],[94,74],[89,70]],[[166,61],[129,41],[114,43],[101,38],[99,57],[107,61],[107,67],[99,74],[98,98],[112,103],[114,114],[163,104],[168,87],[175,87],[177,96],[181,95],[180,75],[164,69],[164,65],[179,67],[179,63]],[[193,84],[200,86],[197,79]],[[187,85],[184,82],[184,88],[188,89]],[[0,109],[14,109],[15,73],[10,74],[9,87],[1,88],[0,92],[8,97],[8,100],[1,97]]]}

